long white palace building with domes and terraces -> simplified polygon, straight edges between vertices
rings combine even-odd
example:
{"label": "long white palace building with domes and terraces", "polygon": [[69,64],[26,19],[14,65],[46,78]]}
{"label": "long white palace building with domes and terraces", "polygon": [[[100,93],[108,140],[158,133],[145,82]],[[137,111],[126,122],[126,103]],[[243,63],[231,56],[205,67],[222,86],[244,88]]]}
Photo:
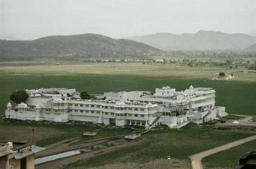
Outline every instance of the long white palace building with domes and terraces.
{"label": "long white palace building with domes and terraces", "polygon": [[149,91],[120,91],[81,100],[76,89],[32,89],[25,103],[8,103],[6,118],[54,122],[86,121],[104,125],[165,124],[179,128],[190,121],[197,124],[227,116],[225,107],[215,106],[215,90],[193,88],[176,91],[169,86]]}

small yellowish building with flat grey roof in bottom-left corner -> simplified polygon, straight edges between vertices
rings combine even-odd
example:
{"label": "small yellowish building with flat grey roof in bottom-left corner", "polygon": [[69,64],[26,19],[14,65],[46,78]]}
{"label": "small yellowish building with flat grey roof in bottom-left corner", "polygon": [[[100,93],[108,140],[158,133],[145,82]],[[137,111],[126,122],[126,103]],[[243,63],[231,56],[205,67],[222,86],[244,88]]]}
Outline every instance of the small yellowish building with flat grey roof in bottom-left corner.
{"label": "small yellowish building with flat grey roof in bottom-left corner", "polygon": [[28,141],[0,140],[0,169],[35,169],[35,153],[42,150]]}

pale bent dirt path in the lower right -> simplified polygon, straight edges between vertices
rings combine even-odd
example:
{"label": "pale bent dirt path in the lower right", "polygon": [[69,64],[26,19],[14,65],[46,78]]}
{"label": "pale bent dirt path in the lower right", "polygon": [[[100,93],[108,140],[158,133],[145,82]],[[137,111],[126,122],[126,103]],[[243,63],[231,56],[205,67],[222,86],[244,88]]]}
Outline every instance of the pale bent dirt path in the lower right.
{"label": "pale bent dirt path in the lower right", "polygon": [[207,150],[207,151],[196,153],[195,155],[192,155],[192,156],[189,157],[190,160],[191,160],[191,166],[192,166],[193,169],[203,169],[204,167],[203,167],[203,164],[201,163],[201,160],[204,157],[212,155],[216,152],[220,152],[220,151],[223,151],[223,150],[228,150],[229,148],[244,144],[245,142],[253,141],[255,139],[256,139],[256,135],[250,136],[250,137],[247,137],[245,139],[238,140],[238,141],[230,142],[229,144],[225,144],[225,145],[222,145],[222,146],[219,146],[219,147],[215,147],[215,148]]}

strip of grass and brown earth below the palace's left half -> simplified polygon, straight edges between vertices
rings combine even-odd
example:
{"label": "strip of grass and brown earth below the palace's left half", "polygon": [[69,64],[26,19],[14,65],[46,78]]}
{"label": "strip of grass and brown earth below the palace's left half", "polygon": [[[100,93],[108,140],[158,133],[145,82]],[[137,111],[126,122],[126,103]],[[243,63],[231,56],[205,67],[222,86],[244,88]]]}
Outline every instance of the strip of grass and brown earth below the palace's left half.
{"label": "strip of grass and brown earth below the palace's left half", "polygon": [[[34,140],[32,129],[35,130]],[[128,129],[102,129],[100,127],[86,125],[65,125],[65,124],[38,124],[33,122],[0,121],[0,139],[28,140],[35,141],[38,146],[46,146],[58,141],[82,136],[83,132],[97,132],[96,136],[84,138],[83,141],[100,139],[117,135],[128,135],[132,130]]]}

